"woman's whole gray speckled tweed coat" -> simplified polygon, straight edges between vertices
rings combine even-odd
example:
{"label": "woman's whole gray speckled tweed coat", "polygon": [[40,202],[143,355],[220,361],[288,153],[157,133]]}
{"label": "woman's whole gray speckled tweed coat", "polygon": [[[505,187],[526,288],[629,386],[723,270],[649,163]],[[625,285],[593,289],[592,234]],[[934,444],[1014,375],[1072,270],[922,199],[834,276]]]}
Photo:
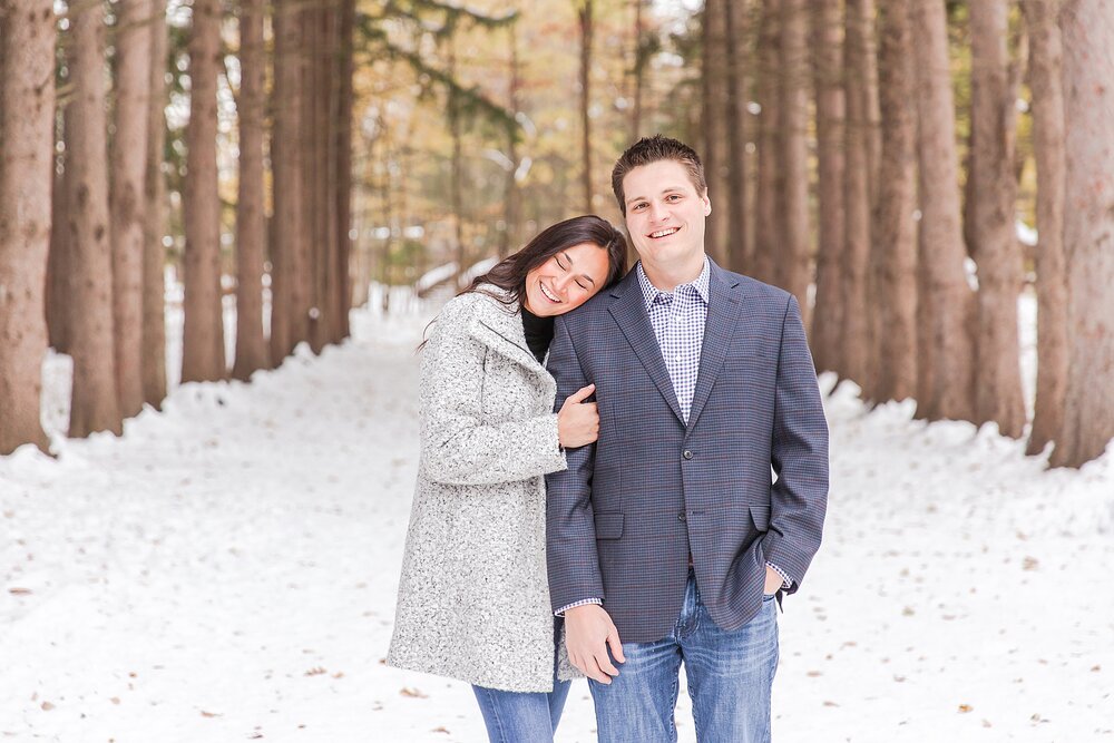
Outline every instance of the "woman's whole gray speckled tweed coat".
{"label": "woman's whole gray speckled tweed coat", "polygon": [[518,306],[479,293],[444,305],[421,356],[421,462],[387,662],[551,691],[544,476],[566,467],[556,384]]}

